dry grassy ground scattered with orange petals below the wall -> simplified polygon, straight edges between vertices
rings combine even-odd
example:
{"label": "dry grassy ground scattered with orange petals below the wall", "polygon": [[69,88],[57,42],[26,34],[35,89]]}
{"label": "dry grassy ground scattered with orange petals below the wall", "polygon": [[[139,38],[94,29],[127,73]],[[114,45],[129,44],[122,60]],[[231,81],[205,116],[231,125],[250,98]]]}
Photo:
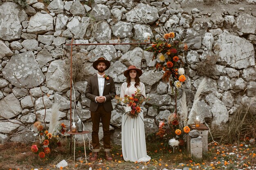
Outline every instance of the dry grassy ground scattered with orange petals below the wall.
{"label": "dry grassy ground scattered with orange petals below the wall", "polygon": [[[185,167],[201,170],[213,169],[256,169],[256,148],[255,144],[249,144],[245,141],[240,144],[220,145],[211,144],[207,155],[203,160],[196,160],[190,157],[185,151],[176,150],[173,153],[171,148],[164,148],[158,141],[148,141],[147,150],[151,161],[147,163],[126,162],[122,158],[121,146],[113,146],[112,155],[114,161],[106,162],[103,152],[100,153],[100,159],[94,163],[86,163],[83,154],[83,145],[76,147],[76,161],[69,154],[69,142],[63,139],[62,146],[56,148],[52,153],[40,159],[38,155],[31,152],[31,145],[20,143],[0,144],[0,170],[56,170],[56,164],[63,159],[68,166],[63,170],[163,170],[164,168],[183,169]],[[90,150],[87,149],[89,157]],[[183,163],[183,165],[181,164]],[[60,168],[61,169],[61,168]],[[190,169],[189,169],[190,170]]]}

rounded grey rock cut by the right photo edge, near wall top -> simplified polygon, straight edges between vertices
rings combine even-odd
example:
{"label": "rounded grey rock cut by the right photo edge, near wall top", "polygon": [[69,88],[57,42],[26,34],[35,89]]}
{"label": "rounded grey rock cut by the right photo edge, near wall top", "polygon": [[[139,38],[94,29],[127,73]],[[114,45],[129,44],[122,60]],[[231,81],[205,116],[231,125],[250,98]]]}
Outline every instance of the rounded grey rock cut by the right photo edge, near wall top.
{"label": "rounded grey rock cut by the right photo edge, near wall top", "polygon": [[239,15],[234,25],[238,29],[238,31],[244,33],[244,34],[256,34],[256,17],[249,15],[249,14],[241,14]]}

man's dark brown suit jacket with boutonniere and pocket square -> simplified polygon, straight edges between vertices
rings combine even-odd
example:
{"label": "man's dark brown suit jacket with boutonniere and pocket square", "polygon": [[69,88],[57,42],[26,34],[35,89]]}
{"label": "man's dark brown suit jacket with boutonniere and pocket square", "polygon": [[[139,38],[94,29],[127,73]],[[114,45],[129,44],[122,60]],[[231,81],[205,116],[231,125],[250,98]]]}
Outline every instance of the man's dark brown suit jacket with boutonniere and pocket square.
{"label": "man's dark brown suit jacket with boutonniere and pocket square", "polygon": [[[108,76],[109,79],[105,78],[104,88],[103,88],[103,96],[106,97],[106,101],[103,104],[106,112],[110,112],[113,110],[111,99],[116,95],[116,88],[114,84],[114,80],[112,77]],[[99,102],[95,102],[95,97],[99,96],[99,83],[97,74],[91,76],[88,79],[85,97],[91,100],[89,110],[91,112],[95,112],[98,108]]]}

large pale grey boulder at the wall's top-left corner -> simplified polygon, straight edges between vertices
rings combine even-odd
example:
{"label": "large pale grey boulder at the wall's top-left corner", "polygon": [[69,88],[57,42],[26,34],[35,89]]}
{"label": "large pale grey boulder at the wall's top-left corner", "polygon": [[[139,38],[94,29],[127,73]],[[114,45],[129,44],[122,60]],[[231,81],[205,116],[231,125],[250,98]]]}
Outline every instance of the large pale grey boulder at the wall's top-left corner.
{"label": "large pale grey boulder at the wall's top-left corner", "polygon": [[5,2],[0,5],[0,18],[0,39],[19,39],[22,31],[20,23],[28,19],[24,9],[13,2]]}

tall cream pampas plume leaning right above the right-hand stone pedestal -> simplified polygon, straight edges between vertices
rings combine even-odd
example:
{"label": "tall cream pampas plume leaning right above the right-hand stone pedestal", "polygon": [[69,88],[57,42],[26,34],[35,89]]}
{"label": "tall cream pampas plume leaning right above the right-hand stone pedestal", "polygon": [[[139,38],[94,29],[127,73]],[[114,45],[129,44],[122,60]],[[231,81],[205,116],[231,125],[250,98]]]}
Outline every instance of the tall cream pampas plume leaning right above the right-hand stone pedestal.
{"label": "tall cream pampas plume leaning right above the right-hand stone pedestal", "polygon": [[198,102],[201,98],[200,95],[201,95],[202,91],[204,90],[206,84],[207,84],[207,79],[206,78],[202,79],[202,81],[200,82],[198,89],[195,93],[194,102],[193,102],[192,108],[191,108],[191,110],[189,112],[189,116],[188,116],[189,124],[191,122],[193,122],[193,120],[195,119],[195,114],[197,113]]}

